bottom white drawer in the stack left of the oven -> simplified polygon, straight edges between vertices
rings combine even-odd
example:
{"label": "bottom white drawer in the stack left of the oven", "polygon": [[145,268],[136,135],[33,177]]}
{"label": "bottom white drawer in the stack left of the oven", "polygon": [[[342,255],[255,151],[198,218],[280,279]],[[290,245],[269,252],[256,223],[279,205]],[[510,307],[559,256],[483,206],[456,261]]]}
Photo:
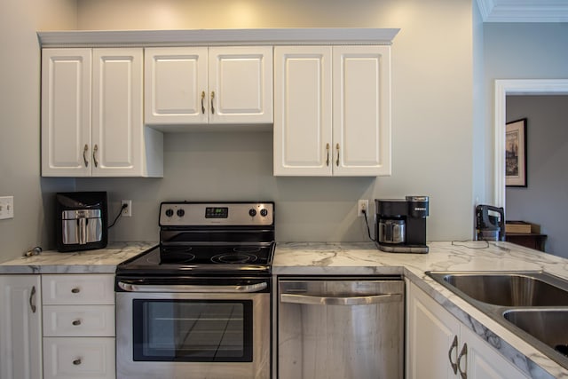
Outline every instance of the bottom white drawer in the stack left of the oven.
{"label": "bottom white drawer in the stack left of the oven", "polygon": [[114,378],[114,338],[43,338],[43,379]]}

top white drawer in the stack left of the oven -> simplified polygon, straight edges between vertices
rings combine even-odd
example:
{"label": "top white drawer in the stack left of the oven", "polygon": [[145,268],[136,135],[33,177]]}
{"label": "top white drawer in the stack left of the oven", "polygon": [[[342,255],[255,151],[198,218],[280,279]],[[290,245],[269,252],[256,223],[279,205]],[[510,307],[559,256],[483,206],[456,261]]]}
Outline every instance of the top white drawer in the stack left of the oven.
{"label": "top white drawer in the stack left of the oven", "polygon": [[42,275],[43,305],[114,304],[114,275]]}

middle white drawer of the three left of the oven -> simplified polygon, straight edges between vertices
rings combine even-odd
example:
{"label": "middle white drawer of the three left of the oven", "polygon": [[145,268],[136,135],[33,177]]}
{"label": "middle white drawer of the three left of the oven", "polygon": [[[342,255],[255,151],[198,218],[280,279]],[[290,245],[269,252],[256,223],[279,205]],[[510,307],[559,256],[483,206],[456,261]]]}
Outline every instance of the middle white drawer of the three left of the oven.
{"label": "middle white drawer of the three left of the oven", "polygon": [[114,305],[43,306],[43,336],[114,336]]}

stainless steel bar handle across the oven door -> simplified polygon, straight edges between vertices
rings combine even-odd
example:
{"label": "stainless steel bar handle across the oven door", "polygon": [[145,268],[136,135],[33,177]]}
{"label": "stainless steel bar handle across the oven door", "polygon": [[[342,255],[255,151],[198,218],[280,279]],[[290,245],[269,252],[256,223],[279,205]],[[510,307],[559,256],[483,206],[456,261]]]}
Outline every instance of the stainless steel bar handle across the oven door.
{"label": "stainless steel bar handle across the oven door", "polygon": [[219,293],[251,293],[268,288],[266,282],[245,286],[196,286],[196,285],[138,285],[119,281],[118,287],[128,292],[219,292]]}

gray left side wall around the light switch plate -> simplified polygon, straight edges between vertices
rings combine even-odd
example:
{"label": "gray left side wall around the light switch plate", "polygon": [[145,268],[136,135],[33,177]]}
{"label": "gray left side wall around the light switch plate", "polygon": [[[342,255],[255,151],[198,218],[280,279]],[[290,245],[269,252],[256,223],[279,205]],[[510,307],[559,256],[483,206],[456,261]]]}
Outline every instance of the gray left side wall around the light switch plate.
{"label": "gray left side wall around the light switch plate", "polygon": [[[0,12],[0,196],[14,196],[14,218],[0,220],[0,260],[49,239],[43,193],[73,179],[40,179],[40,51],[36,30],[76,28],[72,0],[3,0]],[[49,203],[49,201],[48,201]]]}

